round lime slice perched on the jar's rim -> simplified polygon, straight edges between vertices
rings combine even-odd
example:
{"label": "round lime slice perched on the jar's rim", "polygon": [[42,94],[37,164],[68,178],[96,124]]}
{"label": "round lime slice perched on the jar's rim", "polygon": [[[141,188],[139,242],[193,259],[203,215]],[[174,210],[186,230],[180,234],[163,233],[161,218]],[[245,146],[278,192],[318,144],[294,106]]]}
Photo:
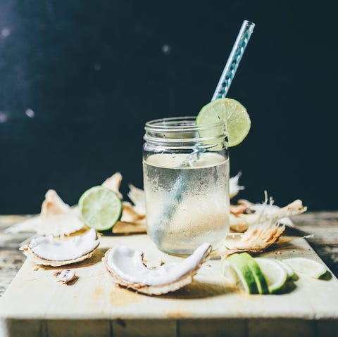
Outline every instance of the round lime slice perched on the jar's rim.
{"label": "round lime slice perched on the jar's rim", "polygon": [[[214,124],[222,120],[227,129],[229,146],[238,145],[250,130],[250,117],[241,103],[231,98],[219,98],[201,108],[196,117],[197,127]],[[202,137],[214,136],[214,130],[201,132]]]}

